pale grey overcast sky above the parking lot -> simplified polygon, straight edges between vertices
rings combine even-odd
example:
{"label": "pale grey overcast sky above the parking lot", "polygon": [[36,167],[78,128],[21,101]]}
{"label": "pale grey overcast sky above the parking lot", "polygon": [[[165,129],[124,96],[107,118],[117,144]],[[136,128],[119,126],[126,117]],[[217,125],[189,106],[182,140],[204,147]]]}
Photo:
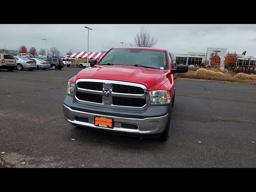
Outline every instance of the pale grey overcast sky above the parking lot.
{"label": "pale grey overcast sky above the parking lot", "polygon": [[17,50],[20,45],[37,50],[56,46],[62,56],[74,52],[100,52],[115,46],[130,46],[134,35],[144,26],[158,37],[156,48],[172,53],[206,52],[208,47],[228,48],[246,56],[256,57],[256,24],[0,24],[0,48]]}

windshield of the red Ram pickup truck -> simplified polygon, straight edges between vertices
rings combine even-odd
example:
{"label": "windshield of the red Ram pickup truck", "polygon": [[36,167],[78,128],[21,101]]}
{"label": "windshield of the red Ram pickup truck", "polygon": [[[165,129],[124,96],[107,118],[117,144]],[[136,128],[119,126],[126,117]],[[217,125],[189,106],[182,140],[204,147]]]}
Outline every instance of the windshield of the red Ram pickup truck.
{"label": "windshield of the red Ram pickup truck", "polygon": [[98,65],[138,65],[157,69],[168,68],[164,51],[142,49],[112,49]]}

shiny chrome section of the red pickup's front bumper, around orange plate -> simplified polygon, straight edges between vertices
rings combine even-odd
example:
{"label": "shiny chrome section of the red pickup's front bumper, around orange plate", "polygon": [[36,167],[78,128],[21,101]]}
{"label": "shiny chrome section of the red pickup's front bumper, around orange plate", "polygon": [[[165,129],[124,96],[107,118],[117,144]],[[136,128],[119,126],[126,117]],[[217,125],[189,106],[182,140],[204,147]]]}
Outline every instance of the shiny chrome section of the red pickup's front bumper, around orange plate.
{"label": "shiny chrome section of the red pickup's front bumper, around orange plate", "polygon": [[[130,134],[159,134],[164,131],[166,127],[166,123],[168,120],[168,114],[160,117],[148,117],[144,119],[136,119],[136,118],[123,118],[117,116],[106,116],[101,114],[88,113],[78,110],[72,110],[70,107],[63,104],[64,117],[65,119],[74,125],[77,126],[85,126],[90,128],[95,128],[98,130],[108,130],[110,132],[120,132],[120,133],[130,133]],[[103,128],[94,125],[94,116],[100,116],[105,118],[113,118],[114,119],[114,128]],[[77,121],[76,117],[84,117],[88,118],[87,122]],[[121,124],[135,124],[138,126],[138,129],[129,129],[122,128]]]}

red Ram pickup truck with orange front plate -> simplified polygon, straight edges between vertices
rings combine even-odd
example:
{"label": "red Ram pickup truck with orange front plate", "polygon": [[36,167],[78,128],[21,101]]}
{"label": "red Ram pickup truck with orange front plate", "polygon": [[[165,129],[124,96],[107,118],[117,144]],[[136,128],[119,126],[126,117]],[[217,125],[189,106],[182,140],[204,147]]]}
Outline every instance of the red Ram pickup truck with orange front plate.
{"label": "red Ram pickup truck with orange front plate", "polygon": [[176,73],[170,52],[115,47],[68,80],[64,117],[78,127],[168,140]]}

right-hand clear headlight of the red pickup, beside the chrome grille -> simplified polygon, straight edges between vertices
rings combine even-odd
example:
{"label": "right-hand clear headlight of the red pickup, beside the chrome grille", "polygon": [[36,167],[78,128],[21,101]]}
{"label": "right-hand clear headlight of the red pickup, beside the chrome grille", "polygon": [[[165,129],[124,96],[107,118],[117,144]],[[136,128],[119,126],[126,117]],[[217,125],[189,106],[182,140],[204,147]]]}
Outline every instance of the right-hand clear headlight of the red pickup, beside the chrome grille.
{"label": "right-hand clear headlight of the red pickup, beside the chrome grille", "polygon": [[169,91],[148,91],[151,105],[169,104],[171,101]]}

